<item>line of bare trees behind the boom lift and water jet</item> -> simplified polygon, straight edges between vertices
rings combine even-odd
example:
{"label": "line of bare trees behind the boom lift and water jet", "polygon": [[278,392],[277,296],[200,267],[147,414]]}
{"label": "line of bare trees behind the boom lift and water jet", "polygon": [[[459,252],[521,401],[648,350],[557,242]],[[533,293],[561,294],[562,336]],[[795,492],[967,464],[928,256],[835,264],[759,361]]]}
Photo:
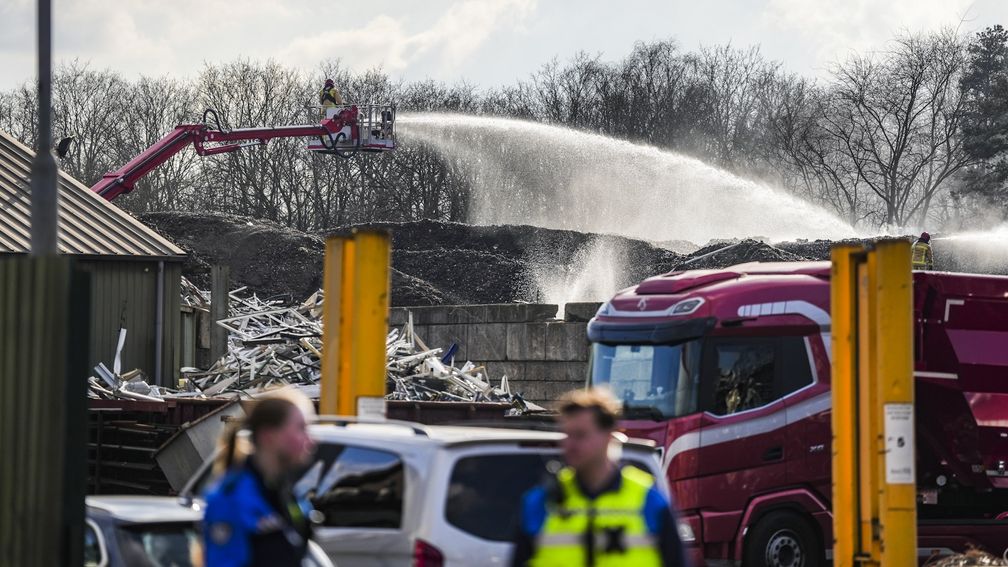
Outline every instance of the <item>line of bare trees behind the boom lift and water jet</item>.
{"label": "line of bare trees behind the boom lift and water jet", "polygon": [[[686,50],[640,42],[616,62],[579,53],[497,89],[394,81],[327,61],[310,73],[275,62],[207,65],[194,78],[141,77],[78,61],[53,75],[53,127],[74,136],[61,166],[86,184],[176,124],[217,110],[225,127],[317,120],[332,78],[347,101],[400,111],[514,117],[692,155],[785,188],[865,229],[970,227],[1008,205],[1008,31],[901,34],[835,63],[826,79],[787,72],[758,47]],[[0,129],[34,145],[32,83],[0,92]],[[421,218],[465,221],[464,163],[400,139],[395,152],[339,159],[303,140],[212,158],[183,151],[117,204],[134,211],[248,215],[301,230]]]}

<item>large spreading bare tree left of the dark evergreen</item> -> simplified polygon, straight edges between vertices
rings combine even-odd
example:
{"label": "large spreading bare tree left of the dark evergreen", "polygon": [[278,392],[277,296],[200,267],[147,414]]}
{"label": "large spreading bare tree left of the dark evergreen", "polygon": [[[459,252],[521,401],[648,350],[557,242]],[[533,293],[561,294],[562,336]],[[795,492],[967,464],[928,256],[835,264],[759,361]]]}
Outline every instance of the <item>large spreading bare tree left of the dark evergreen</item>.
{"label": "large spreading bare tree left of the dark evergreen", "polygon": [[947,182],[969,163],[959,127],[961,39],[951,30],[903,35],[882,56],[860,55],[835,72],[843,121],[832,135],[883,206],[882,223],[924,222]]}

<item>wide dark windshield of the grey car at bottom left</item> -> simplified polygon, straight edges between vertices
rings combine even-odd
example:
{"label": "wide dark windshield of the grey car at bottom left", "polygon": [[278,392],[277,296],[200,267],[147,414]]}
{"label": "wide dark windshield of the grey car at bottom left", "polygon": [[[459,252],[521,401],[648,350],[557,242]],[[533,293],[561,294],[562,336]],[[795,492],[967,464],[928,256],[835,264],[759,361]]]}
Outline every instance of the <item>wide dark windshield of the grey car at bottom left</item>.
{"label": "wide dark windshield of the grey car at bottom left", "polygon": [[203,565],[203,544],[191,522],[120,526],[119,552],[133,567]]}

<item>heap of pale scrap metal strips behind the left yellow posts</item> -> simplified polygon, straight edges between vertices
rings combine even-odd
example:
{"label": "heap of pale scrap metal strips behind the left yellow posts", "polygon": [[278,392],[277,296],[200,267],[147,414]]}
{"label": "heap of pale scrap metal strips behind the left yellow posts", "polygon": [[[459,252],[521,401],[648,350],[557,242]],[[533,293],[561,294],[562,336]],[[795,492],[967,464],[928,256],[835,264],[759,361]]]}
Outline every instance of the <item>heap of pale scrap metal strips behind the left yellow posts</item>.
{"label": "heap of pale scrap metal strips behind the left yellow posts", "polygon": [[[210,293],[182,278],[182,305],[209,312]],[[150,385],[137,370],[116,375],[104,364],[89,379],[89,395],[104,400],[159,402],[167,398],[255,394],[287,384],[314,385],[322,374],[323,293],[299,305],[264,301],[245,288],[230,293],[228,317],[216,324],[228,330],[228,351],[209,369],[182,368],[183,388]],[[412,319],[389,332],[387,399],[411,402],[498,402],[528,411],[512,392],[508,377],[493,384],[484,366],[467,361],[456,366],[455,345],[446,353],[430,348],[413,331]]]}

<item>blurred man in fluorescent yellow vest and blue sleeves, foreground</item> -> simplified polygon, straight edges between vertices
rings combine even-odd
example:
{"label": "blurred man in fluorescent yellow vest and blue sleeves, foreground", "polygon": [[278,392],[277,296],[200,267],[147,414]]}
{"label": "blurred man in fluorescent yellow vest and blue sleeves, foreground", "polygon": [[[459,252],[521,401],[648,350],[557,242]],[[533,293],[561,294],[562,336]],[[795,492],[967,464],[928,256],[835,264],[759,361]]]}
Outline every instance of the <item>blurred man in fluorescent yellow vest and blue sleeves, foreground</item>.
{"label": "blurred man in fluorescent yellow vest and blue sleeves, foreground", "polygon": [[566,466],[525,493],[512,567],[686,565],[654,477],[609,457],[618,412],[607,390],[576,390],[560,403]]}

